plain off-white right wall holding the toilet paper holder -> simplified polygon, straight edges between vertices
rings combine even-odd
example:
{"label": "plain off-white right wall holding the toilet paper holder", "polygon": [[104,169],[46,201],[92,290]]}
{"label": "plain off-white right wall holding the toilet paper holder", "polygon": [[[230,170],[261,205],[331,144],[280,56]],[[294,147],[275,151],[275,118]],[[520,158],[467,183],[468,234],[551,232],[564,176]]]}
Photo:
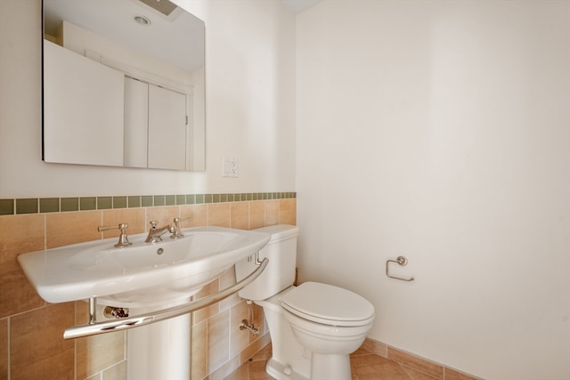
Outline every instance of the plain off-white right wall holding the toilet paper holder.
{"label": "plain off-white right wall holding the toilet paper holder", "polygon": [[[297,16],[301,280],[370,337],[570,377],[570,2],[323,1]],[[388,279],[388,259],[405,255]]]}

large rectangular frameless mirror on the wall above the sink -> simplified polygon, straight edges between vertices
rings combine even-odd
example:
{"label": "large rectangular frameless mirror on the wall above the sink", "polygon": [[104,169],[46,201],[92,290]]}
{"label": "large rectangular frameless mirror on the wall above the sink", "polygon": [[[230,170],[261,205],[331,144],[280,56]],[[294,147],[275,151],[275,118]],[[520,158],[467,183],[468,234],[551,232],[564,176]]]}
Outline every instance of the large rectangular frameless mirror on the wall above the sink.
{"label": "large rectangular frameless mirror on the wall above the sink", "polygon": [[205,26],[168,0],[43,0],[45,162],[205,170]]}

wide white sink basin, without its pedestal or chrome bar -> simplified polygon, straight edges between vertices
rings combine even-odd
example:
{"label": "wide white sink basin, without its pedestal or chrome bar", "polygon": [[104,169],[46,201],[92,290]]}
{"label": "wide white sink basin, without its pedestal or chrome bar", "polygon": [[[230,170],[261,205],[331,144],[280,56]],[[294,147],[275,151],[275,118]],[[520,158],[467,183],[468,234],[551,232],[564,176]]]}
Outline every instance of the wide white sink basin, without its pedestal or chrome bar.
{"label": "wide white sink basin, without its pedestal or chrome bar", "polygon": [[184,237],[145,243],[146,234],[129,236],[130,247],[116,248],[117,238],[46,249],[18,256],[18,262],[48,303],[97,297],[120,307],[165,304],[188,298],[208,282],[255,254],[270,235],[223,227],[182,230]]}

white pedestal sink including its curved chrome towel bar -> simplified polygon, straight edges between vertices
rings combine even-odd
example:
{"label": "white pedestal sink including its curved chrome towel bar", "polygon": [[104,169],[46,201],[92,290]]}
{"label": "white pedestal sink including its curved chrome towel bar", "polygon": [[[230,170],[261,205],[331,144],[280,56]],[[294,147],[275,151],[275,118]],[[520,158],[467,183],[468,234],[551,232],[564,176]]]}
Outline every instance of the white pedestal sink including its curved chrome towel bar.
{"label": "white pedestal sink including its curved chrome towel bar", "polygon": [[[146,234],[134,235],[129,237],[130,247],[117,248],[117,239],[104,239],[46,249],[20,255],[18,262],[46,302],[90,300],[92,320],[69,327],[66,339],[136,327],[129,331],[129,378],[190,378],[188,311],[247,284],[240,281],[244,285],[236,284],[209,299],[185,302],[234,263],[256,254],[270,235],[222,227],[182,232],[183,238],[166,237],[157,243],[145,243]],[[265,265],[260,263],[259,271]],[[127,307],[136,315],[98,322],[94,320],[97,302]],[[164,307],[168,309],[157,311]]]}

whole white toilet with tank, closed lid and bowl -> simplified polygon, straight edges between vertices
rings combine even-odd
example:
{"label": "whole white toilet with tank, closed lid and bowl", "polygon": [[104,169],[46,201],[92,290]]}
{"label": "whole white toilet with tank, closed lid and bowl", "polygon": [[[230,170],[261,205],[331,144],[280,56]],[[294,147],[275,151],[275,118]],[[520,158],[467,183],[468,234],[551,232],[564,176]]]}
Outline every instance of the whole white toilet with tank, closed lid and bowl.
{"label": "whole white toilet with tank, closed lid and bowl", "polygon": [[[267,373],[277,380],[350,380],[349,354],[371,330],[374,306],[342,287],[317,282],[294,287],[298,228],[280,224],[258,231],[272,236],[259,252],[259,260],[267,257],[269,263],[238,294],[264,308],[273,345]],[[255,262],[237,263],[237,279],[254,271]]]}

